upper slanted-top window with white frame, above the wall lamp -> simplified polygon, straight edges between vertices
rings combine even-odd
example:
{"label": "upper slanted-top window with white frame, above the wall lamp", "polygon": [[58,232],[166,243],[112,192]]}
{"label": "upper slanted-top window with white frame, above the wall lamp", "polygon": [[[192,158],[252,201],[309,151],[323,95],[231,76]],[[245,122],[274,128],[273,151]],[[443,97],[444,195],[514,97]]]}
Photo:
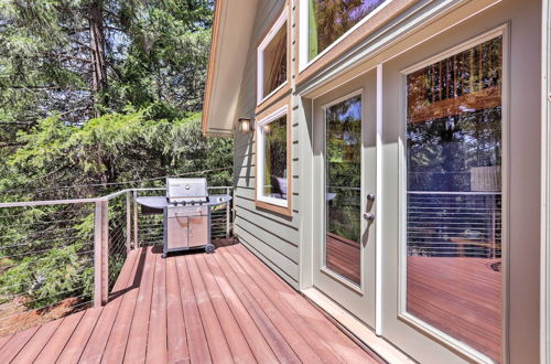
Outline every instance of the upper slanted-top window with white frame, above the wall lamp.
{"label": "upper slanted-top window with white frame, above the wall lamp", "polygon": [[288,84],[288,8],[258,47],[258,105]]}

